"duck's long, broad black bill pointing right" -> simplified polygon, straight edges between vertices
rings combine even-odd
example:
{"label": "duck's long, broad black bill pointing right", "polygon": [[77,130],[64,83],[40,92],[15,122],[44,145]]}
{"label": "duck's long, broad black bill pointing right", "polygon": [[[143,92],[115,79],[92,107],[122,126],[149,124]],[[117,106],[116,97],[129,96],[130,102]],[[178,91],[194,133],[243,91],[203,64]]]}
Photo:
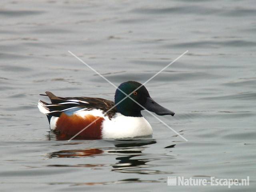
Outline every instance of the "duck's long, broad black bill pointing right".
{"label": "duck's long, broad black bill pointing right", "polygon": [[147,98],[146,103],[143,105],[147,110],[156,113],[157,115],[171,115],[174,116],[174,112],[170,111],[155,102],[151,97]]}

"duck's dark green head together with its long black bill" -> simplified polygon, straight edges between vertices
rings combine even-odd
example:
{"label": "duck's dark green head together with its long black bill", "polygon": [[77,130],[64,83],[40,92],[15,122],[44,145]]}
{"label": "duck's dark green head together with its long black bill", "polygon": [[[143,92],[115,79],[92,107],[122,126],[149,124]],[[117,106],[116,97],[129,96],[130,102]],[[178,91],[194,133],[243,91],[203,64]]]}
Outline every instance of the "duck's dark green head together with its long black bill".
{"label": "duck's dark green head together with its long black bill", "polygon": [[[149,95],[148,90],[142,84],[136,81],[128,81],[120,84],[118,86],[120,90],[133,98],[140,105],[136,104],[130,98],[125,98],[126,95],[122,93],[120,90],[116,90],[115,94],[115,104],[117,104],[117,112],[132,117],[142,117],[141,111],[146,108],[151,112],[156,113],[157,115],[172,115],[174,116],[174,112],[160,106],[156,103]],[[138,90],[136,90],[138,88]],[[135,90],[135,91],[134,91]],[[143,108],[142,108],[143,106]]]}

